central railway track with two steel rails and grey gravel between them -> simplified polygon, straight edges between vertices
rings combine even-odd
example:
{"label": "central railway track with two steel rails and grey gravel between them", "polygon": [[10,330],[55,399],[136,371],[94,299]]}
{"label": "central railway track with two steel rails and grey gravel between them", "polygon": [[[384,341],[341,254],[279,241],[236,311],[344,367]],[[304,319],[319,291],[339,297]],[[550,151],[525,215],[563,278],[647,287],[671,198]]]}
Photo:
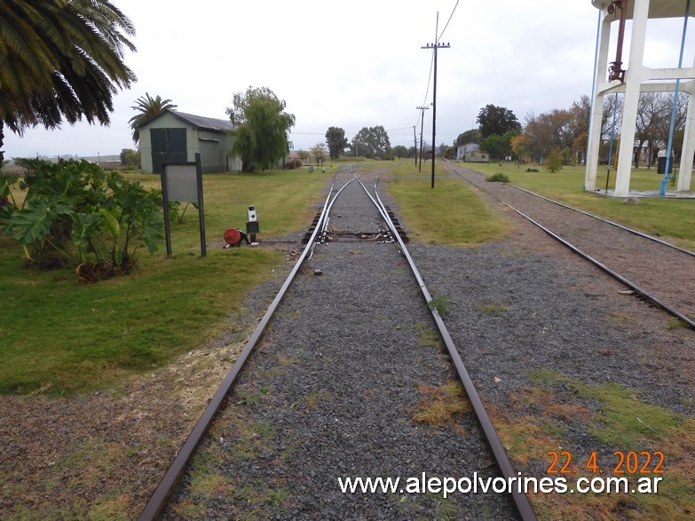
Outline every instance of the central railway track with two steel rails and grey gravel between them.
{"label": "central railway track with two steel rails and grey gravel between them", "polygon": [[[344,178],[339,190],[338,178]],[[349,202],[339,198],[344,192]],[[182,517],[196,493],[196,469],[206,466],[200,461],[211,460],[204,471],[225,493],[212,494],[201,517],[253,517],[258,509],[280,517],[408,517],[446,507],[473,517],[535,518],[516,490],[511,501],[505,494],[475,501],[459,495],[453,507],[408,496],[393,501],[387,494],[367,504],[359,493],[336,493],[337,477],[395,476],[403,469],[518,476],[401,235],[376,183],[372,194],[348,170],[336,174],[302,255],[141,520]],[[288,292],[297,298],[283,302]],[[317,298],[326,301],[318,313]],[[428,324],[446,360],[431,349],[438,341]],[[436,432],[414,422],[423,396],[448,389],[449,381],[462,384],[473,414],[458,415],[456,425]],[[317,490],[321,484],[325,495]],[[306,498],[296,496],[302,490]]]}

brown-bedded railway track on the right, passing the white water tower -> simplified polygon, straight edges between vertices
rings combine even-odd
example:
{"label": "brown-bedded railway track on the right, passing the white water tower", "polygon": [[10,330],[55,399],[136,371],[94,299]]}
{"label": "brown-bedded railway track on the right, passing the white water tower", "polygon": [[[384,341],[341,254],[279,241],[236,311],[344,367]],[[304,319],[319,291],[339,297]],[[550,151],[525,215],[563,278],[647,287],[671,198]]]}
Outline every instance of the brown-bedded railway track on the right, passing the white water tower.
{"label": "brown-bedded railway track on the right, passing the white water tower", "polygon": [[[447,170],[514,210],[645,301],[695,329],[695,253],[514,185],[486,183],[477,172]],[[567,218],[566,213],[572,218]]]}

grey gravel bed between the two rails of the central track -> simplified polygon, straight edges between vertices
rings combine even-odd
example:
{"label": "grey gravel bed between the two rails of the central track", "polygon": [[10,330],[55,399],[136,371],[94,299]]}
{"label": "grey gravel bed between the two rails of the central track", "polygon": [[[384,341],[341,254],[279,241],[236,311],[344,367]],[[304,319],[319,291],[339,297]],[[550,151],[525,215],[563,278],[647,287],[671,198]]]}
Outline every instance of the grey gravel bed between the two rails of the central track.
{"label": "grey gravel bed between the two rails of the central track", "polygon": [[[332,213],[336,231],[381,227],[357,183]],[[454,373],[393,244],[317,246],[278,312],[166,518],[515,517],[494,493],[339,489],[346,477],[497,477],[472,413],[415,421]]]}

